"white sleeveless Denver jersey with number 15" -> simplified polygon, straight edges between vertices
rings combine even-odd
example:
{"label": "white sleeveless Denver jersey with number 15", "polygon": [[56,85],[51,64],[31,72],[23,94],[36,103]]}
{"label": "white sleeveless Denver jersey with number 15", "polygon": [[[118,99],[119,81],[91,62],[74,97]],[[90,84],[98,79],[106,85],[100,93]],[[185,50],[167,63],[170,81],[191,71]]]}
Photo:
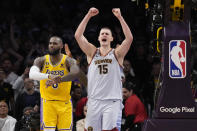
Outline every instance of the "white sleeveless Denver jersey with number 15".
{"label": "white sleeveless Denver jersey with number 15", "polygon": [[88,68],[88,98],[122,99],[121,67],[114,53],[101,56],[97,49]]}

